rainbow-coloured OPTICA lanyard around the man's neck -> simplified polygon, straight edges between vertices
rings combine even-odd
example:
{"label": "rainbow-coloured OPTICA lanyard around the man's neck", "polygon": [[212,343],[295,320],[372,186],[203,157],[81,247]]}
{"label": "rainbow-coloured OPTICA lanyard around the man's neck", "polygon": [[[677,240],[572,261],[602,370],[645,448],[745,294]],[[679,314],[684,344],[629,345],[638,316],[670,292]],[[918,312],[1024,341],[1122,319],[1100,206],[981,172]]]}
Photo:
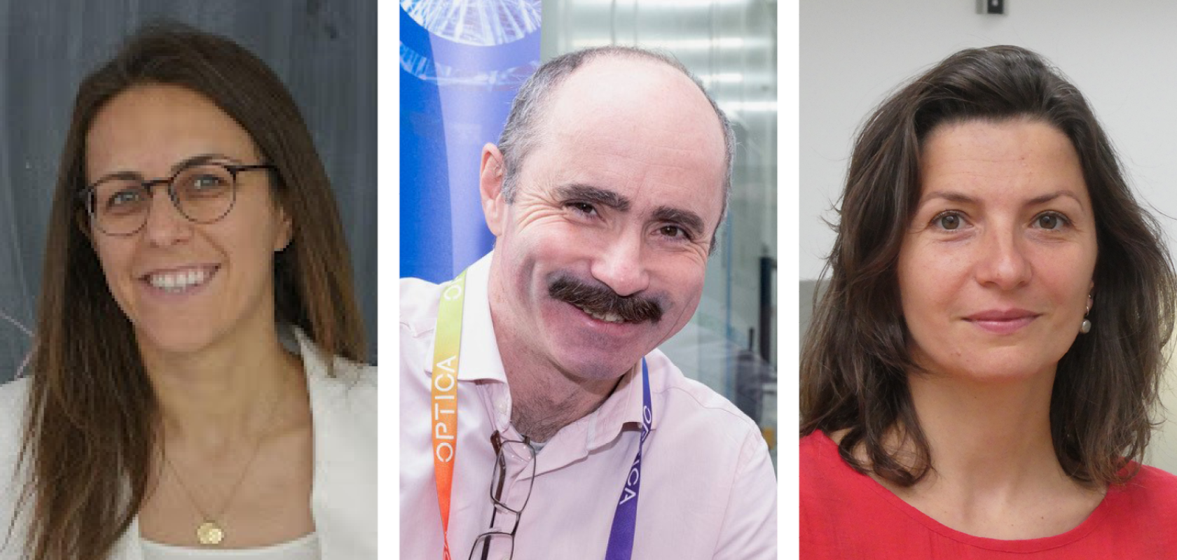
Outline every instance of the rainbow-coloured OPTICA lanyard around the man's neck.
{"label": "rainbow-coloured OPTICA lanyard around the man's neck", "polygon": [[[466,271],[443,285],[438,305],[438,322],[433,342],[432,404],[433,474],[441,509],[441,558],[450,556],[450,498],[453,489],[453,461],[458,453],[458,351],[461,348],[461,306],[466,295]],[[638,520],[638,492],[641,485],[641,451],[653,421],[650,404],[650,371],[641,359],[641,439],[638,454],[621,487],[613,513],[605,560],[629,560],[633,554],[633,534]]]}

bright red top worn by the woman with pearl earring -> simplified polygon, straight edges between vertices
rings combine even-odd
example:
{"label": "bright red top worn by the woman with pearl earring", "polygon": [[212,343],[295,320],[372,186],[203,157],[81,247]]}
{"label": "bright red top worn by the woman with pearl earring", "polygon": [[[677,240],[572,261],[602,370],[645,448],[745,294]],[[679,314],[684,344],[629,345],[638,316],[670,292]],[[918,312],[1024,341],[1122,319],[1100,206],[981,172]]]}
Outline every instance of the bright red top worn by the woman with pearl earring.
{"label": "bright red top worn by the woman with pearl earring", "polygon": [[1144,466],[1111,486],[1078,527],[1043,539],[998,540],[951,529],[838,455],[827,435],[800,440],[803,560],[1177,559],[1177,476]]}

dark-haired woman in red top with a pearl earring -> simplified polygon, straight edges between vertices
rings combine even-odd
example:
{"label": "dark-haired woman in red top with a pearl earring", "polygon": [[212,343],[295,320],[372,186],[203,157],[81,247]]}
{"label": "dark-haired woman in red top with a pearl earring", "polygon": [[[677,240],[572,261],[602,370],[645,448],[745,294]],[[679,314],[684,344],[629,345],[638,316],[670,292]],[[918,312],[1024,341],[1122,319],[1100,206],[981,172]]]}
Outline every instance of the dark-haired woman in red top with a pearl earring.
{"label": "dark-haired woman in red top with a pearl earring", "polygon": [[1177,558],[1141,466],[1177,279],[1083,95],[962,51],[867,119],[802,354],[818,558]]}

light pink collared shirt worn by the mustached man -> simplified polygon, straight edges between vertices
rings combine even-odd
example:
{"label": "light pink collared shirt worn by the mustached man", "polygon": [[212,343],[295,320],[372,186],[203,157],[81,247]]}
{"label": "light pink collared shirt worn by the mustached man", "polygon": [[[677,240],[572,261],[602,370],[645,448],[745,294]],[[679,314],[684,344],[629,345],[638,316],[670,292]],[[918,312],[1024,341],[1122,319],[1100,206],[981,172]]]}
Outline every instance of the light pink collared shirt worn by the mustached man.
{"label": "light pink collared shirt worn by the mustached man", "polygon": [[[492,253],[493,254],[493,253]],[[458,372],[458,445],[450,552],[470,553],[490,529],[496,429],[510,426],[511,394],[491,324],[492,255],[466,278]],[[400,281],[400,556],[441,559],[441,518],[433,476],[430,375],[437,285]],[[686,379],[658,351],[646,356],[653,406],[643,453],[633,559],[777,558],[777,482],[756,424],[706,386]],[[604,560],[617,501],[640,435],[641,375],[634,367],[593,413],[560,429],[539,451],[514,559]],[[527,491],[506,481],[504,499]],[[499,515],[497,527],[513,519]],[[505,558],[494,549],[490,558]]]}

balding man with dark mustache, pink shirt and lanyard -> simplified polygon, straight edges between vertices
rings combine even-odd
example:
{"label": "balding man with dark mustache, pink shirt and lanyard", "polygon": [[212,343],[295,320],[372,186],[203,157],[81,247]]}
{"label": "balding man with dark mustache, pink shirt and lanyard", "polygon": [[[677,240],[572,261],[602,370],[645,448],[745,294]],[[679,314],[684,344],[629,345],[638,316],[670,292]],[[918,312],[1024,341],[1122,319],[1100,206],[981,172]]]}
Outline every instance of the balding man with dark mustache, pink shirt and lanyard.
{"label": "balding man with dark mustache, pink shirt and lanyard", "polygon": [[401,281],[403,558],[776,558],[759,429],[656,349],[699,304],[733,146],[650,52],[523,86],[481,154],[494,251]]}

